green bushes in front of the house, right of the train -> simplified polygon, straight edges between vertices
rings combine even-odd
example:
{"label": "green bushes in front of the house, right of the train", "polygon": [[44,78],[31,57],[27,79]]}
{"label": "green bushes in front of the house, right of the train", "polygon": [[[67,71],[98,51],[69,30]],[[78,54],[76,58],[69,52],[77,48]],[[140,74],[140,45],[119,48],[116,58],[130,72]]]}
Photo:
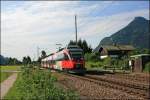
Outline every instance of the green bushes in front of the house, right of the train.
{"label": "green bushes in front of the house, right of the train", "polygon": [[[97,54],[98,55],[98,54]],[[129,70],[130,67],[128,65],[128,58],[111,58],[107,57],[105,59],[99,59],[96,54],[85,54],[86,60],[86,67],[103,67],[106,68],[113,68],[113,69],[122,69],[122,70]]]}

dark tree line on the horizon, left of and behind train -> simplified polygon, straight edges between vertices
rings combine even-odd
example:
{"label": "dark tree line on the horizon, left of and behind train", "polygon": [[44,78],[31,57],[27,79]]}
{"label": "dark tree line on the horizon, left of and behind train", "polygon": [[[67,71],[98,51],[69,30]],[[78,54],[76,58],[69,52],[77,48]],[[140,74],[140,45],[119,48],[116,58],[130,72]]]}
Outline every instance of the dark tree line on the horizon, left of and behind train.
{"label": "dark tree line on the horizon, left of and behind train", "polygon": [[[68,45],[76,45],[76,42],[73,40],[70,40]],[[86,40],[79,39],[77,41],[77,45],[83,49],[84,54],[92,52],[92,48],[90,45],[87,44]],[[3,57],[2,55],[0,55],[0,65],[18,65],[18,64],[27,65],[27,64],[33,64],[33,63],[40,64],[41,59],[43,59],[45,57],[47,57],[47,54],[44,50],[41,51],[41,56],[38,58],[37,61],[32,61],[30,56],[25,56],[25,57],[23,57],[22,61],[19,61],[16,58]]]}

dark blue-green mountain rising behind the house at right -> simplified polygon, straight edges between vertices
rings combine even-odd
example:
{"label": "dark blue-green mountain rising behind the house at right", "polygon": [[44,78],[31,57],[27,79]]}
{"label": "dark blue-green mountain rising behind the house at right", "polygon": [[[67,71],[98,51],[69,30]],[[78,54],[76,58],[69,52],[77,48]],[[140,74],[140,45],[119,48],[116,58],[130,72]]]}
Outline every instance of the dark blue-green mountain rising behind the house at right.
{"label": "dark blue-green mountain rising behind the house at right", "polygon": [[135,48],[149,48],[150,46],[149,20],[135,17],[126,27],[105,37],[99,45],[133,45]]}

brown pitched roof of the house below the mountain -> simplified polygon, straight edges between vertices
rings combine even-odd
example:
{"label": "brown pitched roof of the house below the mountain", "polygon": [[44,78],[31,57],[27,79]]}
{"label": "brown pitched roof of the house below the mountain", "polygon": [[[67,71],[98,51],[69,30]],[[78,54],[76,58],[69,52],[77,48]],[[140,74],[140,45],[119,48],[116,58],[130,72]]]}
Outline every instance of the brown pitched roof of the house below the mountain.
{"label": "brown pitched roof of the house below the mountain", "polygon": [[114,51],[114,50],[116,50],[116,51],[118,51],[118,50],[127,50],[127,51],[129,51],[129,50],[134,50],[134,47],[131,46],[131,45],[99,45],[93,50],[93,52],[99,52],[99,49],[101,47],[103,49],[108,50],[108,51]]}

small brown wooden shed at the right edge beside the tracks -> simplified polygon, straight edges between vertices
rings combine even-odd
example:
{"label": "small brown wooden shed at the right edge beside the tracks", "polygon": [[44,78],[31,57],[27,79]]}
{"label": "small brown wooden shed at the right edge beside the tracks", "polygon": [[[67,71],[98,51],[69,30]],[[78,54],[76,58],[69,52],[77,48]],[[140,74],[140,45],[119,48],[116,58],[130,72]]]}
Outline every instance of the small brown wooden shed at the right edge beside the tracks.
{"label": "small brown wooden shed at the right edge beside the tracks", "polygon": [[150,54],[139,54],[131,56],[132,72],[143,72],[145,64],[150,62]]}

